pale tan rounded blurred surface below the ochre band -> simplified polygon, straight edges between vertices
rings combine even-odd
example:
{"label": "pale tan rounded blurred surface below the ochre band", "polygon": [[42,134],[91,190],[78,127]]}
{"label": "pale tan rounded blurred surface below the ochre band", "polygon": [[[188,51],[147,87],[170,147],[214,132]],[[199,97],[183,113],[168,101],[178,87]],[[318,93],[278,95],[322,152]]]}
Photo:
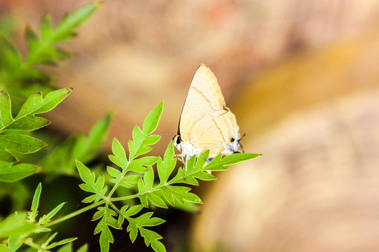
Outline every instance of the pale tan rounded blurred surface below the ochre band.
{"label": "pale tan rounded blurred surface below the ochre band", "polygon": [[203,199],[194,251],[378,251],[378,97],[295,113],[248,144],[262,157]]}

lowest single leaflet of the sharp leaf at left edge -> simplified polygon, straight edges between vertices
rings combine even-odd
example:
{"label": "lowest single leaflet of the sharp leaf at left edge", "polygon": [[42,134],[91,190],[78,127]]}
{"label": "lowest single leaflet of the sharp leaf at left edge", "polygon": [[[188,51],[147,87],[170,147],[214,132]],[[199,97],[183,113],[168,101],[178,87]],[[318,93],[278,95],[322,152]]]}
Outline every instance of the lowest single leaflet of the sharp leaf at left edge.
{"label": "lowest single leaflet of the sharp leaf at left edge", "polygon": [[14,182],[27,176],[41,172],[41,167],[29,164],[13,165],[11,162],[0,161],[0,181]]}

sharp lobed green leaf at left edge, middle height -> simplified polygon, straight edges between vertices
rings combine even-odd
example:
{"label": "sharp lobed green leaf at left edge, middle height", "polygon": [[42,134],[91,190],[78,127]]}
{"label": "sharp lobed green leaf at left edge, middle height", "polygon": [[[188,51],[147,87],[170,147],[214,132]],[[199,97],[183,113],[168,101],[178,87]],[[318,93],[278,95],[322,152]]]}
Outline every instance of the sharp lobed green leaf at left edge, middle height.
{"label": "sharp lobed green leaf at left edge, middle height", "polygon": [[5,90],[0,91],[0,181],[17,181],[41,171],[36,165],[12,163],[18,161],[16,153],[34,153],[46,146],[28,135],[50,123],[36,114],[51,111],[71,92],[71,88],[62,88],[49,92],[44,98],[41,93],[32,94],[13,118],[11,99]]}

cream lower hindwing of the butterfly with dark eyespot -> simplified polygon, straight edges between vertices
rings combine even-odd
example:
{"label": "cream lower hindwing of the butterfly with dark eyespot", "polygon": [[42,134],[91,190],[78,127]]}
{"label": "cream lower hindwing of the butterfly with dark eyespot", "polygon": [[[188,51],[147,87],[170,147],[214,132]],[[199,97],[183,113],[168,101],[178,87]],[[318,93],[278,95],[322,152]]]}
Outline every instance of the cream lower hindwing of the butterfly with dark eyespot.
{"label": "cream lower hindwing of the butterfly with dark eyespot", "polygon": [[227,108],[215,111],[192,127],[189,139],[197,145],[198,154],[209,150],[209,158],[219,153],[229,155],[239,148],[237,120]]}

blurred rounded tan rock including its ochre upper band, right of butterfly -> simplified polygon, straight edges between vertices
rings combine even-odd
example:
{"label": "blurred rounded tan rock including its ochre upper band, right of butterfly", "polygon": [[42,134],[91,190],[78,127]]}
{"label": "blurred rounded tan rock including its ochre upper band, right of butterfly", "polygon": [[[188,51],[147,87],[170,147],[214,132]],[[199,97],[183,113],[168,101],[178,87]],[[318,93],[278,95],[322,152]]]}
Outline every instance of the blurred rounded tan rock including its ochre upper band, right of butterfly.
{"label": "blurred rounded tan rock including its ochre upper band, right of butterfly", "polygon": [[[257,160],[218,174],[194,251],[378,251],[378,36],[267,69],[236,116]],[[233,109],[233,107],[232,107]]]}

